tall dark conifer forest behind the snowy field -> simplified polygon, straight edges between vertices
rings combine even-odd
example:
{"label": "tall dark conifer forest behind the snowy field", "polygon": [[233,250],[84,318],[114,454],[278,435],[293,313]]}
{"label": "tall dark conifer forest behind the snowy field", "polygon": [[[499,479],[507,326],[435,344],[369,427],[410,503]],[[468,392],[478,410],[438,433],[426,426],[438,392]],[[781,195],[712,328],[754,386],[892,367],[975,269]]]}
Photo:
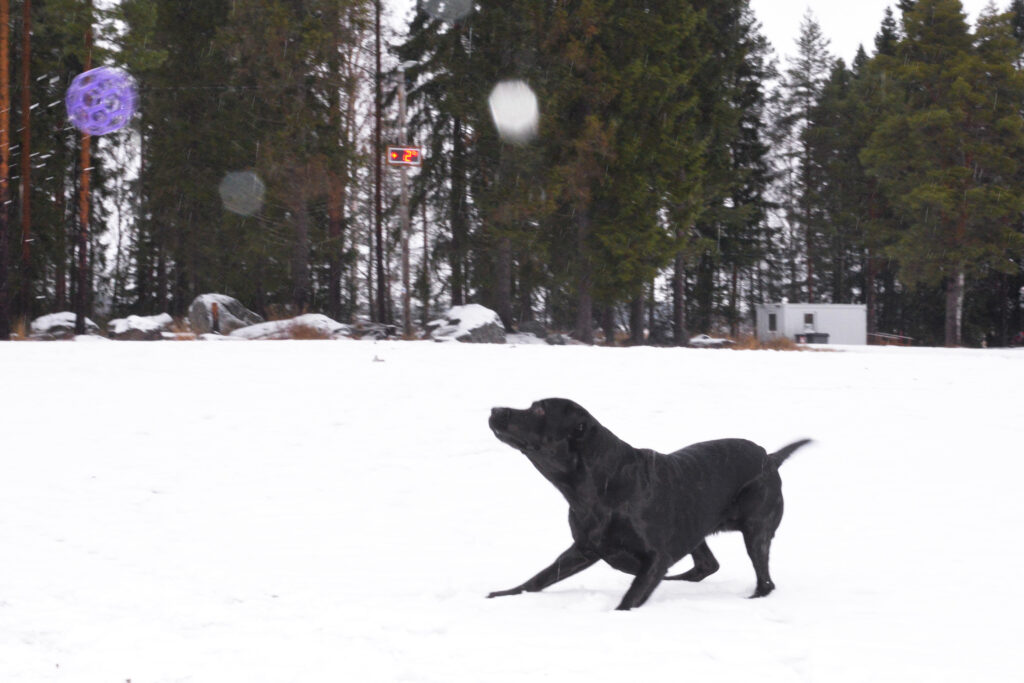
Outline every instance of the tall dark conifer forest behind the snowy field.
{"label": "tall dark conifer forest behind the snowy field", "polygon": [[[915,344],[1024,331],[1024,0],[900,0],[852,63],[811,13],[773,48],[749,0],[438,4],[0,0],[0,339],[207,292],[407,335],[480,303],[685,344],[783,299]],[[100,65],[138,108],[89,136],[63,97]],[[529,140],[488,111],[510,79]]]}

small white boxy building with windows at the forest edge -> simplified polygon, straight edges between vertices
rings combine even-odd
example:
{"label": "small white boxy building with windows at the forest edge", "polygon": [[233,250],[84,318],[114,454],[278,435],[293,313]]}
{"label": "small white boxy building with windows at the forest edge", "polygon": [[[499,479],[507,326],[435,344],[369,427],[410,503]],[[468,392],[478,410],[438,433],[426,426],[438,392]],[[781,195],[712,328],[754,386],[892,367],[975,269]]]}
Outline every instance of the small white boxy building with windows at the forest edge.
{"label": "small white boxy building with windows at the forest edge", "polygon": [[[797,342],[866,344],[867,306],[861,303],[759,303],[760,341],[788,337]],[[827,335],[827,337],[825,337]]]}

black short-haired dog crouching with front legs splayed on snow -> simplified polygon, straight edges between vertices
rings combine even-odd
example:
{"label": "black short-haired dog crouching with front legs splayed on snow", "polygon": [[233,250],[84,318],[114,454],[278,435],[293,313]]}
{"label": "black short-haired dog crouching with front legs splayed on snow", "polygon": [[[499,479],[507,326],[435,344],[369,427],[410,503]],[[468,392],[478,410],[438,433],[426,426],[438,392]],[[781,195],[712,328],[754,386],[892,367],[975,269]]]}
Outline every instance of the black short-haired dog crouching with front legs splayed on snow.
{"label": "black short-haired dog crouching with front legs splayed on snow", "polygon": [[[705,537],[740,531],[757,589],[772,592],[768,550],[782,519],[778,466],[809,439],[768,455],[742,439],[694,443],[670,455],[634,449],[565,398],[528,410],[496,408],[490,429],[521,451],[569,503],[572,545],[554,564],[508,591],[542,591],[604,560],[636,579],[617,609],[639,607],[663,579],[700,581],[718,570]],[[693,568],[666,577],[688,554]]]}

